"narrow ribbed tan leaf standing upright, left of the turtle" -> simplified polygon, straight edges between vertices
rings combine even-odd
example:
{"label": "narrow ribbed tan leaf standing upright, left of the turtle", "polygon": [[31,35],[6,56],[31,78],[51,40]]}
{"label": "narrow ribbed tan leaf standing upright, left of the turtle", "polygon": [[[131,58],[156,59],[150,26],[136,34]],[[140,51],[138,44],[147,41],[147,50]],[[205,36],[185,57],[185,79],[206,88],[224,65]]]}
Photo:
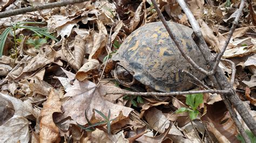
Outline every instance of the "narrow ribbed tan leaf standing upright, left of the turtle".
{"label": "narrow ribbed tan leaf standing upright, left of the turtle", "polygon": [[84,59],[84,54],[85,54],[85,42],[80,35],[76,35],[75,37],[75,62],[77,63],[77,68],[80,69],[82,67],[82,62]]}

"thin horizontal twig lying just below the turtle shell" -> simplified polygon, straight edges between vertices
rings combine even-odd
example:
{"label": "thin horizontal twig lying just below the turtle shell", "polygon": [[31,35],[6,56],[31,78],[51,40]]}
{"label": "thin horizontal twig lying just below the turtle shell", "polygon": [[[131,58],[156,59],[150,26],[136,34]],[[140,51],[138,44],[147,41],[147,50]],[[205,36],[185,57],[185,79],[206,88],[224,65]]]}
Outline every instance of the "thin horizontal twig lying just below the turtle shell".
{"label": "thin horizontal twig lying just below the turtle shell", "polygon": [[231,94],[230,90],[197,90],[197,91],[176,91],[176,92],[130,92],[130,91],[113,91],[106,92],[108,94],[122,94],[122,95],[134,95],[134,96],[174,96],[174,95],[188,95],[188,94]]}

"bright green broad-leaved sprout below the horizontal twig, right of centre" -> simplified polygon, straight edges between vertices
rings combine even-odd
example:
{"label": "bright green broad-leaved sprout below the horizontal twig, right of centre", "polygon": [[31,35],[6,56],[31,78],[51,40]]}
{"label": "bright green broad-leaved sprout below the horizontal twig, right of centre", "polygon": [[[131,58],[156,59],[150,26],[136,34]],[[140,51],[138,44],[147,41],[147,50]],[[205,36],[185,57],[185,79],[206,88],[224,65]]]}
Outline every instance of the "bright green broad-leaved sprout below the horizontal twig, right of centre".
{"label": "bright green broad-leaved sprout below the horizontal twig, right of centre", "polygon": [[198,106],[203,103],[203,94],[191,94],[186,95],[186,104],[190,106],[190,108],[180,108],[176,111],[176,113],[188,112],[190,115],[190,119],[194,120],[199,115]]}

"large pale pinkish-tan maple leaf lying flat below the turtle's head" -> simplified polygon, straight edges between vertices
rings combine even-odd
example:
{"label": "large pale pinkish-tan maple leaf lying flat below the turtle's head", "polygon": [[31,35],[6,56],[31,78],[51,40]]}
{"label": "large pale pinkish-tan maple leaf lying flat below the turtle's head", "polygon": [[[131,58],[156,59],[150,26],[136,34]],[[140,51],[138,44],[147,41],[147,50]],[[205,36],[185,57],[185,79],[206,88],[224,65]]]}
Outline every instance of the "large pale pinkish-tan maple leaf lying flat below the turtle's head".
{"label": "large pale pinkish-tan maple leaf lying flat below the turtle's head", "polygon": [[[60,117],[56,118],[58,121],[71,117],[74,121],[73,123],[85,125],[87,121],[85,120],[84,112],[86,111],[87,117],[91,119],[93,115],[93,110],[97,109],[104,115],[109,113],[111,110],[111,119],[117,118],[122,112],[123,116],[129,116],[129,113],[133,110],[125,106],[113,104],[109,101],[103,99],[103,91],[100,91],[100,87],[96,89],[96,84],[90,81],[75,81],[72,87],[66,89],[65,97],[70,97],[67,101],[63,103],[64,113]],[[121,90],[117,87],[109,87],[107,91]],[[102,93],[103,95],[101,95]],[[95,115],[96,119],[101,119],[102,117],[98,114]],[[122,118],[120,118],[122,119]]]}

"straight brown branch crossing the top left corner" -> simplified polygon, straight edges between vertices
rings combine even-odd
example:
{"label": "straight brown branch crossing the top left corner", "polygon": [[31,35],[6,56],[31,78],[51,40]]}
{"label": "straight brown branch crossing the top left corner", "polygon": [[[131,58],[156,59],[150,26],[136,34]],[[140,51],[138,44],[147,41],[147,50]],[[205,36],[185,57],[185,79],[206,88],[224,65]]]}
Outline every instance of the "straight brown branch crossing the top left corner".
{"label": "straight brown branch crossing the top left corner", "polygon": [[82,3],[89,0],[73,0],[73,1],[65,1],[65,2],[54,2],[54,3],[47,3],[44,5],[36,5],[36,6],[29,6],[26,8],[16,9],[16,10],[8,10],[4,12],[0,12],[0,18],[4,17],[10,17],[10,16],[16,16],[20,14],[24,14],[26,12],[32,12],[32,11],[38,11],[38,10],[44,10],[44,9],[52,9],[56,7],[66,6],[69,4],[75,4],[75,3]]}

